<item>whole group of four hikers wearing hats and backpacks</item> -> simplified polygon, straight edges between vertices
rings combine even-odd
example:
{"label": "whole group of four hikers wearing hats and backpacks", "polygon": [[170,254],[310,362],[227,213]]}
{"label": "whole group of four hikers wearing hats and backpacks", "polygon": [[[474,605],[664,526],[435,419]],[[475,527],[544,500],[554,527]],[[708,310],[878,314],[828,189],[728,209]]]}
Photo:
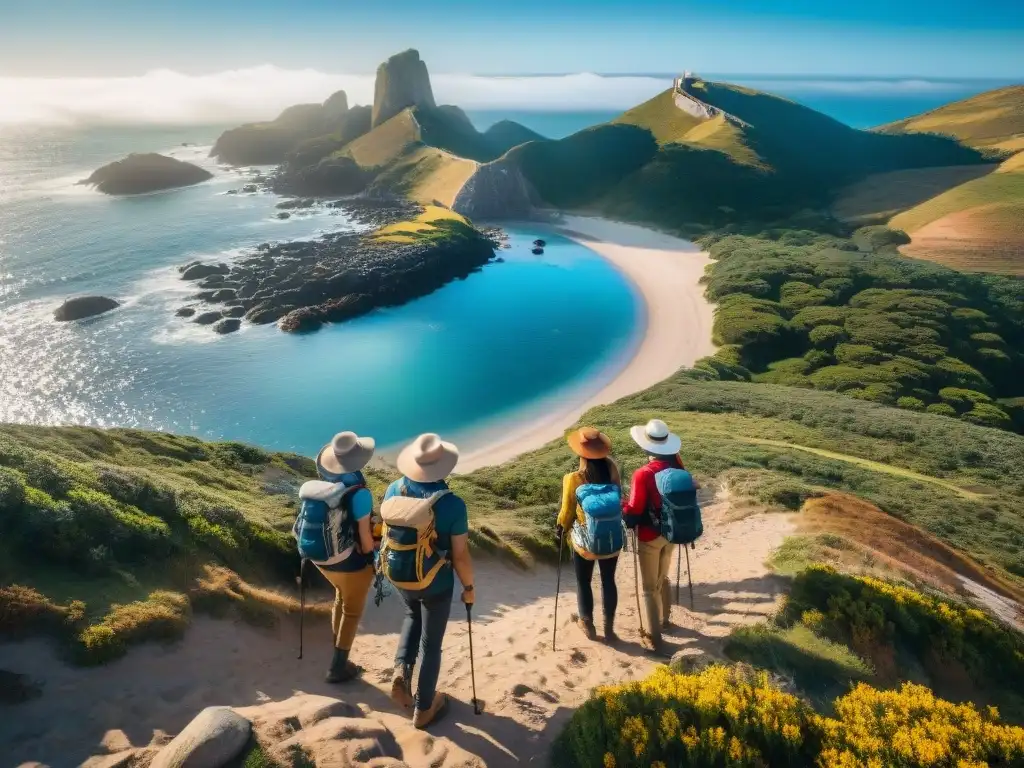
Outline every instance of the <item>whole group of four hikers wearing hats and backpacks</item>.
{"label": "whole group of four hikers wearing hats and backpacks", "polygon": [[[615,642],[615,568],[625,545],[624,526],[633,529],[648,627],[642,642],[665,653],[662,633],[671,626],[673,547],[692,545],[702,532],[697,485],[683,467],[679,437],[665,422],[651,420],[633,427],[630,434],[649,460],[633,474],[628,499],[623,499],[607,435],[590,427],[568,435],[580,466],[562,481],[555,527],[559,560],[567,539],[578,587],[575,622],[592,640],[597,632],[591,580],[597,564],[605,640]],[[449,703],[447,695],[437,690],[437,679],[456,575],[467,617],[476,598],[466,503],[446,482],[459,450],[433,433],[417,437],[398,454],[395,463],[402,476],[387,488],[375,513],[362,474],[375,447],[372,437],[354,432],[340,432],[324,446],[316,457],[321,479],[299,490],[293,532],[302,570],[312,562],[335,588],[331,614],[335,650],[327,681],[342,683],[360,674],[349,658],[359,618],[374,584],[379,591],[390,584],[404,606],[391,698],[413,711],[417,728],[426,728],[443,716]]]}

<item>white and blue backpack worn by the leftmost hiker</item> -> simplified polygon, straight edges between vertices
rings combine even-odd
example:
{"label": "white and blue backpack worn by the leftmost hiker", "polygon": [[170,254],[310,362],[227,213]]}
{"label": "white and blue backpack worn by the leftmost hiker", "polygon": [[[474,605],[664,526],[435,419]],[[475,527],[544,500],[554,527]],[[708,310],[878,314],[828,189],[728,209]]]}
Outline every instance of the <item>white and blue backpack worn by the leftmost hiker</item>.
{"label": "white and blue backpack worn by the leftmost hiker", "polygon": [[309,480],[299,488],[299,514],[292,535],[299,556],[317,565],[334,565],[355,548],[355,525],[348,513],[348,495],[362,484]]}

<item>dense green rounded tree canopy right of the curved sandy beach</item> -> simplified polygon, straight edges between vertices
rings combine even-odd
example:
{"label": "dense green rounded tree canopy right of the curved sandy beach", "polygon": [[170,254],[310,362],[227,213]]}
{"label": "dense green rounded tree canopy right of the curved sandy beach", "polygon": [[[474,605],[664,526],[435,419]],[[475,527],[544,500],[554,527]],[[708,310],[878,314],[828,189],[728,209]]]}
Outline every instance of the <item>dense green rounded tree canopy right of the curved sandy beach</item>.
{"label": "dense green rounded tree canopy right of the curved sandy beach", "polygon": [[902,241],[873,227],[712,242],[717,370],[1024,429],[997,401],[1021,394],[1021,282],[902,258]]}

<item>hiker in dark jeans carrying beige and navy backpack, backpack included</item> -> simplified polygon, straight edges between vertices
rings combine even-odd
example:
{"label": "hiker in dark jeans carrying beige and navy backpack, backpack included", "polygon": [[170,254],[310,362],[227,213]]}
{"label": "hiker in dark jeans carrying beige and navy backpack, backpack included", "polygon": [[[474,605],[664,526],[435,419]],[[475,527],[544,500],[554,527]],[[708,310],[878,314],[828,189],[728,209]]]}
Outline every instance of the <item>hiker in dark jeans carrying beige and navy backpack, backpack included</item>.
{"label": "hiker in dark jeans carrying beige and navy backpack, backpack included", "polygon": [[436,434],[420,435],[398,455],[395,463],[402,477],[391,483],[381,504],[379,567],[406,604],[391,698],[400,707],[415,708],[417,728],[426,728],[447,710],[449,697],[437,690],[437,678],[456,573],[463,603],[469,606],[475,600],[466,503],[444,481],[458,461],[454,444]]}

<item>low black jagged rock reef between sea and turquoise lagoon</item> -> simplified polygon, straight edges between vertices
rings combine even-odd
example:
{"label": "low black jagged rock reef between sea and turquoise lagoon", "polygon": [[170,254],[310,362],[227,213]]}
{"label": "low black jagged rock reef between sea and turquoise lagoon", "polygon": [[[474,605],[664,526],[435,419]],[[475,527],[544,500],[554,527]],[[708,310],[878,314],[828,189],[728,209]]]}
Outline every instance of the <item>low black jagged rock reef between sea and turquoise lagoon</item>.
{"label": "low black jagged rock reef between sea and turquoise lagoon", "polygon": [[[345,206],[349,216],[378,226],[406,220],[422,210],[404,203],[370,201],[346,201]],[[425,296],[478,269],[494,253],[490,239],[454,220],[432,237],[413,243],[337,232],[314,241],[264,244],[232,264],[223,283],[195,296],[209,304],[228,302],[230,306],[223,311],[211,309],[194,322],[219,325],[225,318],[237,321],[244,312],[254,325],[278,323],[283,331],[313,331],[325,323],[340,323],[376,307]]]}

